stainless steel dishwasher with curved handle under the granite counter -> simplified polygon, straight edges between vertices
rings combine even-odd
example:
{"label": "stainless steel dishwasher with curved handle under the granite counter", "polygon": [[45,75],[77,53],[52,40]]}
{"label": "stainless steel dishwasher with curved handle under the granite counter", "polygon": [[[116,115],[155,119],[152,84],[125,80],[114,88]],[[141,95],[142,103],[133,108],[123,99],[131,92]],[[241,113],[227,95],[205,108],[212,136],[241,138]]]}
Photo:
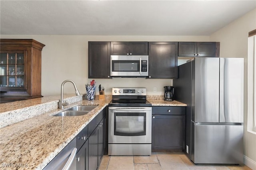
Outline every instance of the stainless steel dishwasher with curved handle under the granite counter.
{"label": "stainless steel dishwasher with curved handle under the granite counter", "polygon": [[43,170],[75,170],[76,138],[74,138]]}

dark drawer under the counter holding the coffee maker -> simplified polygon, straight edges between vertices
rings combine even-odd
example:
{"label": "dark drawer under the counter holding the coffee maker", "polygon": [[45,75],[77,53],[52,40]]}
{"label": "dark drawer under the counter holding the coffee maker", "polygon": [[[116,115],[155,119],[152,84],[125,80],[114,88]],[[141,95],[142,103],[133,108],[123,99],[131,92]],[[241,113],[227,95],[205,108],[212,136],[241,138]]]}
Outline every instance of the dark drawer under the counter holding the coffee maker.
{"label": "dark drawer under the counter holding the coffee maker", "polygon": [[185,115],[186,107],[183,106],[153,106],[152,115]]}

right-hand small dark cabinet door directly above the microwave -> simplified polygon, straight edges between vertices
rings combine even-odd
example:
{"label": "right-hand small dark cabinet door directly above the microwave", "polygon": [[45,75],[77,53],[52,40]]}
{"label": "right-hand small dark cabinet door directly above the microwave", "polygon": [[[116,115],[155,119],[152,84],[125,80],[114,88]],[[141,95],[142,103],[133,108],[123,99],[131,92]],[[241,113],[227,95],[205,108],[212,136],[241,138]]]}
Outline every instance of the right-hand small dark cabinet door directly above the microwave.
{"label": "right-hand small dark cabinet door directly above the microwave", "polygon": [[130,42],[129,55],[148,55],[148,42]]}

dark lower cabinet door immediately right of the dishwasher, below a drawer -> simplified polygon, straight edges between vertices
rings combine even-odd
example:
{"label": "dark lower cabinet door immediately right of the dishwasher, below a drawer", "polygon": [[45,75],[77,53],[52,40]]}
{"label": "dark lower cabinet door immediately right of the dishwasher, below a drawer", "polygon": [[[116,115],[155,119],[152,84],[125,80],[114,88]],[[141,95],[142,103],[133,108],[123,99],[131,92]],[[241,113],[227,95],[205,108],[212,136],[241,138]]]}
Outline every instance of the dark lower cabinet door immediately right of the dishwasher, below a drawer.
{"label": "dark lower cabinet door immediately right of the dishwasher, below a drawer", "polygon": [[76,153],[76,169],[88,170],[88,140]]}

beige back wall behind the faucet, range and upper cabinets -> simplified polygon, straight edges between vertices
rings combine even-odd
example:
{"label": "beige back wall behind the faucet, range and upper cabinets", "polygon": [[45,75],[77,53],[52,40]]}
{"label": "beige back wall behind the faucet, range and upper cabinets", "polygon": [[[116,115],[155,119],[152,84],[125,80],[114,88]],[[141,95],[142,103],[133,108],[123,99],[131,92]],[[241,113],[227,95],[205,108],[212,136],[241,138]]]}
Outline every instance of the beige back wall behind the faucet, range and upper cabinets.
{"label": "beige back wall behind the faucet, range and upper cabinets", "polygon": [[[60,94],[61,83],[66,79],[73,80],[81,94],[86,93],[84,85],[92,80],[88,79],[88,41],[209,41],[209,36],[1,35],[1,38],[30,38],[46,45],[42,50],[43,96]],[[106,94],[111,94],[112,87],[146,87],[147,94],[163,95],[163,87],[172,85],[172,79],[95,80],[96,85],[106,88]],[[153,92],[153,87],[157,92]],[[71,83],[64,85],[64,93],[74,93]]]}

